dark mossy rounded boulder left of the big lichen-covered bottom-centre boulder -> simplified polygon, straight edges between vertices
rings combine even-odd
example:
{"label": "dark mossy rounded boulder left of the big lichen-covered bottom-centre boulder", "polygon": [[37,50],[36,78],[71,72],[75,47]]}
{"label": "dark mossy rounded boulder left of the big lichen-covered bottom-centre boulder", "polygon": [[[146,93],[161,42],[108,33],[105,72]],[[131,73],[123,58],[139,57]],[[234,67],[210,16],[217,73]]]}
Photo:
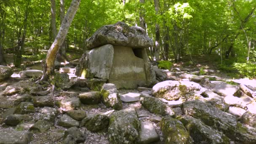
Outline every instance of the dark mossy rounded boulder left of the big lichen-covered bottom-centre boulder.
{"label": "dark mossy rounded boulder left of the big lichen-covered bottom-centre boulder", "polygon": [[91,115],[85,117],[81,122],[81,126],[93,132],[106,131],[108,125],[109,117],[107,115]]}

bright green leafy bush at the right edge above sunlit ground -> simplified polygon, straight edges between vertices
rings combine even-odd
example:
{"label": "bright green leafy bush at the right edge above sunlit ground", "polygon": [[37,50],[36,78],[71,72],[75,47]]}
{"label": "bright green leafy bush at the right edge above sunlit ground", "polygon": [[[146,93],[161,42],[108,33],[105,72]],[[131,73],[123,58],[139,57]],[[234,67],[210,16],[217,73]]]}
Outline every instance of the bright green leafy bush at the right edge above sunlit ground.
{"label": "bright green leafy bush at the right edge above sunlit ground", "polygon": [[238,70],[240,75],[256,78],[256,64],[255,63],[234,63],[234,68]]}

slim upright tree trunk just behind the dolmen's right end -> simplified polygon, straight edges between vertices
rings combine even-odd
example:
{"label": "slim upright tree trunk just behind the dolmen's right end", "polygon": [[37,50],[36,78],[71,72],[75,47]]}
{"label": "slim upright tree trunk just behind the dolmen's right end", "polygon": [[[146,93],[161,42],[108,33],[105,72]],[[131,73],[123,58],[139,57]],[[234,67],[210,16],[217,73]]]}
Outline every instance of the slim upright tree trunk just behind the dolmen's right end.
{"label": "slim upright tree trunk just behind the dolmen's right end", "polygon": [[[155,3],[155,12],[158,14],[159,11],[159,0],[154,0]],[[159,49],[160,49],[160,26],[159,24],[155,24],[155,60],[159,61]]]}

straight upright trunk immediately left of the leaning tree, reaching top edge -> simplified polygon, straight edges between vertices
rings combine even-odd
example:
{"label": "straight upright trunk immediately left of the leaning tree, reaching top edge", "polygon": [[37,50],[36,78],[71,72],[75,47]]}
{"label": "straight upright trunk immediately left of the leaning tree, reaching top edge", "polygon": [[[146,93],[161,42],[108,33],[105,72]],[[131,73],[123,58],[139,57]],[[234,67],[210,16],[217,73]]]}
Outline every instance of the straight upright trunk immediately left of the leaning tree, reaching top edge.
{"label": "straight upright trunk immediately left of the leaning tree, reaching top edge", "polygon": [[51,31],[52,31],[52,37],[53,39],[55,39],[55,37],[57,36],[55,0],[51,0]]}

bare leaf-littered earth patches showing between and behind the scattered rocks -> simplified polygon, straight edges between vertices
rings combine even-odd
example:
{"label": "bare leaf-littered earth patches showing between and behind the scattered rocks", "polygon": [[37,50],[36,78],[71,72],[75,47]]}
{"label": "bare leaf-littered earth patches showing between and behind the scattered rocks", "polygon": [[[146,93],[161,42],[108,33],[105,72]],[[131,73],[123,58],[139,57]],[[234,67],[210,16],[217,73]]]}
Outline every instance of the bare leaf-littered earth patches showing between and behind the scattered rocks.
{"label": "bare leaf-littered earth patches showing between and behind the scattered rocks", "polygon": [[[75,51],[68,52],[68,57],[69,57],[70,61],[78,61],[79,55],[80,55],[79,52],[75,52]],[[7,58],[8,63],[11,64],[12,60],[13,60],[13,56],[11,54],[8,54],[6,56],[6,58]],[[230,77],[230,75],[228,75],[227,73],[224,73],[224,72],[220,72],[217,69],[218,63],[216,62],[217,61],[216,59],[220,59],[218,56],[195,55],[195,56],[192,56],[192,59],[196,63],[195,65],[191,64],[190,57],[187,56],[181,62],[173,63],[173,67],[189,68],[189,69],[192,69],[192,68],[213,69],[215,72],[211,75],[221,77],[221,79],[224,81],[232,80],[232,77]],[[32,69],[39,69],[39,70],[42,69],[40,66],[40,62],[33,61],[32,58],[24,59],[23,64],[25,64],[24,69],[26,67],[32,67]],[[11,66],[11,65],[9,65],[9,66]],[[14,74],[16,74],[16,75],[19,74],[19,71],[21,71],[21,70],[22,69],[15,69]],[[0,93],[3,92],[8,85],[19,84],[20,80],[27,81],[31,85],[34,85],[33,83],[35,82],[35,80],[31,79],[31,78],[12,77],[9,80],[6,80],[5,82],[0,83]],[[63,97],[61,97],[59,95],[59,93],[61,91],[57,91],[56,93],[54,93],[53,101],[55,103],[56,103],[56,101],[61,101],[61,99],[64,99]],[[80,91],[75,91],[75,90],[72,90],[72,92],[80,93]],[[119,90],[120,95],[128,93],[128,92],[141,93],[138,90]],[[19,99],[18,97],[19,97],[19,94],[13,95],[11,97],[1,96],[0,114],[3,115],[3,113],[6,112],[6,110],[8,108],[13,107],[15,100]],[[153,113],[149,112],[147,109],[145,109],[144,107],[142,107],[141,103],[139,101],[134,102],[134,103],[123,103],[123,109],[127,108],[127,107],[135,107],[136,108],[136,111],[139,115],[140,121],[150,121],[152,117],[161,117],[160,115],[153,114]],[[67,130],[67,128],[59,126],[57,124],[57,122],[58,122],[59,118],[61,118],[64,115],[65,112],[63,111],[63,109],[57,107],[56,105],[54,106],[54,108],[56,108],[59,112],[55,118],[54,126],[52,126],[47,132],[33,133],[33,139],[30,142],[30,144],[60,144],[61,143],[62,137],[64,136],[64,132],[65,132],[65,130]],[[29,127],[31,127],[31,125],[33,123],[35,123],[35,117],[38,117],[40,109],[41,109],[40,107],[36,107],[35,113],[28,114],[28,119],[25,120],[24,123],[22,123],[27,126],[25,126],[25,128],[22,128],[21,130],[27,131],[29,129]],[[79,109],[86,111],[86,115],[96,115],[96,114],[103,114],[103,113],[108,113],[108,115],[111,115],[111,113],[112,113],[112,109],[107,108],[102,103],[96,104],[96,105],[82,104]],[[173,108],[173,110],[176,112],[176,114],[179,114],[179,113],[182,114],[180,108]],[[20,124],[20,125],[22,125],[22,124]],[[164,138],[163,138],[163,133],[160,130],[159,123],[153,122],[153,125],[155,126],[157,134],[160,136],[160,141],[155,142],[154,144],[163,144]],[[0,131],[20,131],[20,129],[17,126],[7,126],[2,123],[0,125]],[[86,136],[86,140],[85,140],[84,144],[109,144],[107,131],[105,131],[103,133],[93,133],[91,131],[88,131],[84,127],[80,128],[80,131],[85,133],[85,136]]]}

